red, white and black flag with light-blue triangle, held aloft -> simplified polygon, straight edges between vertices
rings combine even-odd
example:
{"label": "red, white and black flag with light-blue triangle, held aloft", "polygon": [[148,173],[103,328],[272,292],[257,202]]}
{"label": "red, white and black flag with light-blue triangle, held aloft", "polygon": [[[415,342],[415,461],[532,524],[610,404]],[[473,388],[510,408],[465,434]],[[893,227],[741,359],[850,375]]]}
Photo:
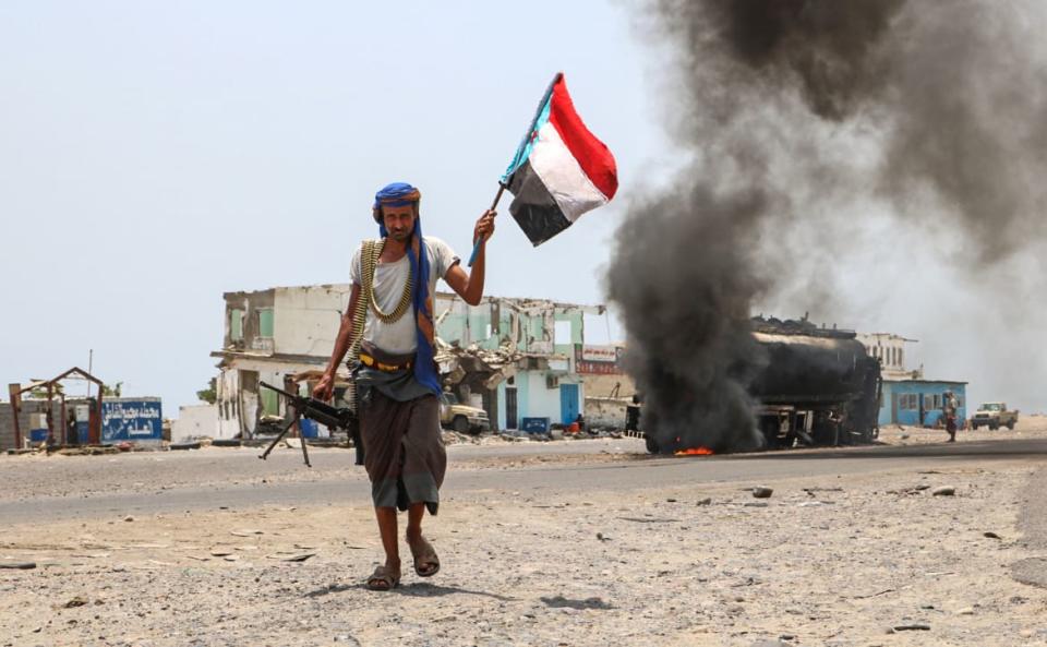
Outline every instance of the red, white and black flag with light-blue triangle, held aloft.
{"label": "red, white and black flag with light-blue triangle, held aloft", "polygon": [[618,190],[611,151],[582,123],[563,73],[550,84],[502,183],[509,213],[537,247]]}

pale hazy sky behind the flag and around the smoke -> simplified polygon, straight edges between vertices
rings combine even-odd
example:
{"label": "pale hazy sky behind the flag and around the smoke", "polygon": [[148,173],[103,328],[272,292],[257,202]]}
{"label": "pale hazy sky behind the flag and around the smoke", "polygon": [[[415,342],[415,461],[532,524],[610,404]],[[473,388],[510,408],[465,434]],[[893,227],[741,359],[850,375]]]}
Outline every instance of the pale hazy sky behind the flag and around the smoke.
{"label": "pale hazy sky behind the flag and around the smoke", "polygon": [[[94,349],[95,374],[177,416],[216,373],[221,293],[347,281],[389,181],[418,185],[425,231],[467,255],[557,71],[621,190],[538,249],[503,202],[486,291],[601,302],[630,197],[679,166],[659,125],[673,109],[665,52],[619,2],[393,5],[0,3],[0,381],[86,368]],[[918,338],[929,376],[1043,408],[1034,256],[1007,268],[1019,303],[986,305],[998,287],[966,290],[962,240],[866,223],[861,256],[820,268],[837,276],[833,304],[799,292],[775,312]]]}

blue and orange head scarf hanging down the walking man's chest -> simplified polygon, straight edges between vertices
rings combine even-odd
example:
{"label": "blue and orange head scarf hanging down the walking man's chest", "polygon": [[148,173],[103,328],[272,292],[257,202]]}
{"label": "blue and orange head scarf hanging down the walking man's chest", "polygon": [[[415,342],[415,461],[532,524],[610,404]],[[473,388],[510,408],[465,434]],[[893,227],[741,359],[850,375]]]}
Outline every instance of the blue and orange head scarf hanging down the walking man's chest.
{"label": "blue and orange head scarf hanging down the walking man's chest", "polygon": [[382,238],[386,238],[389,232],[382,219],[382,207],[414,206],[414,230],[411,232],[411,240],[407,245],[407,256],[411,262],[411,276],[414,278],[414,291],[411,297],[414,305],[414,331],[418,338],[414,379],[432,391],[434,395],[440,395],[442,388],[433,354],[435,330],[433,325],[433,302],[429,295],[429,253],[425,251],[425,240],[422,238],[422,219],[418,214],[418,204],[421,199],[421,192],[407,182],[393,182],[374,194],[373,213],[378,221],[378,233],[382,235]]}

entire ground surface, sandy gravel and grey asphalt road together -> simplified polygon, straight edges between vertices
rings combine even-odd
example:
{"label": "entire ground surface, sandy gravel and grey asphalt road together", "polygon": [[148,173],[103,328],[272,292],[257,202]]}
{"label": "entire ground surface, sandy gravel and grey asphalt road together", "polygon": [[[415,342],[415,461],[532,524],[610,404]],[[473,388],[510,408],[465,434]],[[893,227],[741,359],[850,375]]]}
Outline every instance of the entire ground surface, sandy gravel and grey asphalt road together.
{"label": "entire ground surface, sandy gravel and grey asphalt road together", "polygon": [[1047,590],[1013,578],[1047,556],[1025,537],[1047,424],[892,433],[712,459],[450,447],[444,567],[393,594],[360,586],[378,549],[347,453],[3,457],[0,564],[37,567],[0,570],[0,645],[1047,645]]}

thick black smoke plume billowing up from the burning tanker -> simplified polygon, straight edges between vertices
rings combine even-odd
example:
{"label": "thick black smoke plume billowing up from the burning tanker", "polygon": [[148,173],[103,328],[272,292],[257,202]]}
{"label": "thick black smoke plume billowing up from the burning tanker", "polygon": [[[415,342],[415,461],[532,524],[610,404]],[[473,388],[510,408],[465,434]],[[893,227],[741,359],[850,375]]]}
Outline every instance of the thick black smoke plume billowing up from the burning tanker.
{"label": "thick black smoke plume billowing up from the burning tanker", "polygon": [[877,202],[900,226],[959,231],[983,263],[1043,237],[1035,2],[646,7],[642,28],[675,65],[669,127],[693,161],[630,206],[607,287],[646,431],[664,450],[759,443],[747,387],[767,360],[750,310],[797,279],[797,236],[846,249],[858,205]]}

